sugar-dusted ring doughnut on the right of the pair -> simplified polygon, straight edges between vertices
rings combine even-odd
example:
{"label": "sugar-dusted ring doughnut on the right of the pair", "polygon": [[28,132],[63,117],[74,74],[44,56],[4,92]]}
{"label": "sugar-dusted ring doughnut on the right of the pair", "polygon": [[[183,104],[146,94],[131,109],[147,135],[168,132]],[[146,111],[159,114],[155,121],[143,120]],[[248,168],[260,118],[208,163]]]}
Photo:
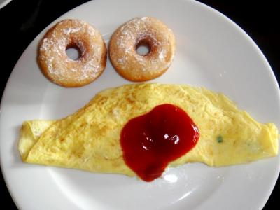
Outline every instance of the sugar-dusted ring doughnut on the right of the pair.
{"label": "sugar-dusted ring doughnut on the right of the pair", "polygon": [[[148,54],[139,55],[137,48],[148,46]],[[119,27],[111,37],[109,55],[121,76],[131,81],[152,80],[165,73],[175,52],[175,36],[160,20],[134,18]]]}

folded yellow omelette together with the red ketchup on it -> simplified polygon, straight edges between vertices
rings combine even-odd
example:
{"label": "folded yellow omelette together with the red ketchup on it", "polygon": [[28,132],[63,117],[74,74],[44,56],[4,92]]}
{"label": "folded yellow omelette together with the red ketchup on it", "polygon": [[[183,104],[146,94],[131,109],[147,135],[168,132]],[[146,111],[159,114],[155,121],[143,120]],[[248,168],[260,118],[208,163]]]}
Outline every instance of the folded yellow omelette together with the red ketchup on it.
{"label": "folded yellow omelette together with the red ketchup on it", "polygon": [[188,85],[124,85],[61,120],[26,121],[24,162],[151,181],[186,162],[235,165],[278,153],[278,130],[223,94]]}

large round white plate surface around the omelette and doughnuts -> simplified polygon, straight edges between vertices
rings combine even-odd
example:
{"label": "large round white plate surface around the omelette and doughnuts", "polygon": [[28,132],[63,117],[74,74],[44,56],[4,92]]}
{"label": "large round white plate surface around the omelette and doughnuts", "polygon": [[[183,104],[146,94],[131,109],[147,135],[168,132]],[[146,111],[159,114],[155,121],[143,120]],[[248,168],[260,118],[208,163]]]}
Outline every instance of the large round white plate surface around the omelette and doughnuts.
{"label": "large round white plate surface around the omelette and doughnuts", "polygon": [[[108,43],[136,16],[159,18],[177,39],[171,68],[154,82],[186,83],[223,92],[257,120],[280,127],[280,97],[272,69],[234,22],[196,1],[97,0],[63,15],[94,25]],[[56,20],[55,22],[57,22]],[[53,25],[54,23],[52,23]],[[169,169],[151,183],[116,174],[27,165],[17,151],[24,120],[62,118],[96,92],[129,83],[108,63],[94,83],[66,89],[50,83],[36,64],[42,31],[15,66],[3,94],[1,167],[20,209],[261,209],[279,174],[280,158],[214,168],[199,163]]]}

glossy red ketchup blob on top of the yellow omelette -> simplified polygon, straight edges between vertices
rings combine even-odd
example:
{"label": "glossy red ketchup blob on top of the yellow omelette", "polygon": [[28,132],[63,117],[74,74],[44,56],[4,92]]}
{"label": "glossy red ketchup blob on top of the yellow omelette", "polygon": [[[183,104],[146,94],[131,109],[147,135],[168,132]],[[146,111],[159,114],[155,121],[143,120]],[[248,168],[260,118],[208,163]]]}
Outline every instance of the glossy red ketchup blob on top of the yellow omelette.
{"label": "glossy red ketchup blob on top of the yellow omelette", "polygon": [[199,138],[197,126],[185,111],[162,104],[128,121],[120,144],[127,166],[144,181],[153,181],[169,162],[188,153]]}

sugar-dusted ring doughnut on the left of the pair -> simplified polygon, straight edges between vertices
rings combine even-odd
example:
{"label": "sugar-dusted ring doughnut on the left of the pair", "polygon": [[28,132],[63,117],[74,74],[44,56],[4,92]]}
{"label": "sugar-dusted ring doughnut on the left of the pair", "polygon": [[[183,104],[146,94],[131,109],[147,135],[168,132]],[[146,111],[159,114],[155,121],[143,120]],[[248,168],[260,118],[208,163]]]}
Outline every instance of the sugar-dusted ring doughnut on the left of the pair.
{"label": "sugar-dusted ring doughnut on the left of the pair", "polygon": [[[76,60],[66,55],[76,48]],[[38,45],[38,65],[53,83],[80,87],[98,78],[106,67],[106,45],[102,35],[83,20],[62,20],[48,30]]]}

